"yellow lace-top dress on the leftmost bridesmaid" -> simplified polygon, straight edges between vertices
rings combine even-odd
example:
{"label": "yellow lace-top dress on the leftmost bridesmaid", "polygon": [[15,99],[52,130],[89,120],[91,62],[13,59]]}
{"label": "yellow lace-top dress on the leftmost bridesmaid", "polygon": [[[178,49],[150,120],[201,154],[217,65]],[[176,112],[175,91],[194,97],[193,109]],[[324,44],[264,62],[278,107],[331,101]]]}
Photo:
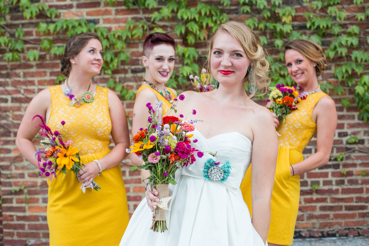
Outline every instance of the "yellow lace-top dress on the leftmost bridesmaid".
{"label": "yellow lace-top dress on the leftmost bridesmaid", "polygon": [[[51,113],[47,125],[78,147],[83,164],[110,152],[111,121],[108,89],[96,86],[92,103],[70,107],[60,86],[49,88]],[[61,121],[65,121],[63,129]],[[83,194],[75,174],[56,171],[48,185],[47,220],[51,246],[119,245],[128,225],[128,205],[120,165],[94,178],[101,190]]]}

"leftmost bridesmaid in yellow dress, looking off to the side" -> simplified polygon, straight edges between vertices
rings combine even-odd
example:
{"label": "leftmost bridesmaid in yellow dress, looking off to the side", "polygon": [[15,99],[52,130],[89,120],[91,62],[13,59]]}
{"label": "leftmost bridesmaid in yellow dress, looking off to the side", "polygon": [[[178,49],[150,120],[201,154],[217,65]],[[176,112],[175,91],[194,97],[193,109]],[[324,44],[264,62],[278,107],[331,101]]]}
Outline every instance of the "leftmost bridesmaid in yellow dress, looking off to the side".
{"label": "leftmost bridesmaid in yellow dress, looking off to the side", "polygon": [[[118,245],[129,221],[127,196],[120,162],[128,155],[127,118],[117,95],[92,84],[103,65],[102,45],[94,33],[69,39],[61,60],[61,72],[67,76],[62,85],[42,90],[28,105],[18,130],[16,145],[36,167],[32,139],[40,123],[34,115],[46,118],[52,131],[73,141],[79,149],[83,171],[76,176],[56,171],[48,177],[47,219],[51,246]],[[71,100],[75,95],[84,100]],[[86,96],[87,95],[87,96]],[[90,99],[90,100],[89,100]],[[92,99],[92,100],[91,100]],[[64,128],[61,124],[62,121]],[[111,134],[115,146],[109,149]],[[94,180],[101,190],[90,188],[83,194],[80,186]],[[79,183],[80,182],[80,183]]]}

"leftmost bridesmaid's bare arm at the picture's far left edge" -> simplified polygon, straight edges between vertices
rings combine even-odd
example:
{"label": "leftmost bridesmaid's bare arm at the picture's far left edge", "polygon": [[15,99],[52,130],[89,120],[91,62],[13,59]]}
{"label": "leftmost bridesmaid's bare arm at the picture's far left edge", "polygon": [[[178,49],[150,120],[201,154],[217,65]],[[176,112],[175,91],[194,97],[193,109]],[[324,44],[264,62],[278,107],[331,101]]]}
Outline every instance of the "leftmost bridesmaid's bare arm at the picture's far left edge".
{"label": "leftmost bridesmaid's bare arm at the picture's far left edge", "polygon": [[25,157],[28,162],[32,163],[35,167],[38,168],[37,160],[34,156],[36,152],[36,148],[32,143],[32,139],[36,136],[40,128],[35,127],[41,124],[41,120],[39,118],[35,118],[32,121],[32,118],[35,115],[41,115],[46,118],[46,111],[48,107],[51,105],[51,94],[49,89],[44,89],[40,91],[30,102],[25,110],[22,122],[19,126],[17,132],[17,138],[15,139],[15,145],[21,152],[21,154]]}

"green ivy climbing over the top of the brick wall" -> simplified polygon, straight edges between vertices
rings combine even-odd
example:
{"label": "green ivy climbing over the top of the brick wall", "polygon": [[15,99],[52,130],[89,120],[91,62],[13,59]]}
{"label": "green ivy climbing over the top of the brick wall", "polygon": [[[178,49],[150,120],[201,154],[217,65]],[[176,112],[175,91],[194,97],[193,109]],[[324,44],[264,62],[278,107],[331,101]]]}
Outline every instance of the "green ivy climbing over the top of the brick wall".
{"label": "green ivy climbing over the top of the brick wall", "polygon": [[[116,0],[106,0],[114,6]],[[334,76],[338,79],[338,85],[333,86],[330,82],[321,84],[323,90],[334,90],[336,94],[345,92],[344,86],[354,88],[355,104],[360,109],[360,118],[364,121],[369,119],[369,75],[363,73],[364,64],[369,65],[368,42],[369,37],[360,36],[360,23],[367,21],[369,9],[365,12],[353,14],[341,4],[341,0],[326,1],[299,1],[301,8],[305,9],[303,15],[306,28],[310,28],[311,35],[304,35],[299,31],[297,25],[292,24],[295,16],[295,8],[282,6],[282,0],[239,0],[239,14],[244,14],[249,18],[245,21],[254,30],[262,31],[262,45],[267,49],[276,49],[278,55],[269,55],[270,77],[272,83],[293,84],[288,75],[287,68],[284,65],[283,44],[295,38],[307,38],[318,44],[322,39],[329,38],[332,35],[336,38],[330,43],[329,49],[325,50],[325,55],[329,59],[344,58],[344,63],[334,69]],[[192,2],[193,3],[193,2]],[[356,6],[360,6],[363,0],[354,0]],[[23,35],[24,31],[17,28],[14,31],[9,30],[4,23],[6,14],[10,8],[19,7],[23,11],[26,19],[35,18],[36,15],[44,15],[46,19],[42,20],[37,30],[41,35],[54,35],[55,38],[43,38],[37,45],[37,49],[29,49],[27,58],[37,60],[40,52],[48,52],[50,55],[61,55],[64,51],[62,44],[54,44],[58,36],[67,35],[71,37],[77,33],[94,31],[99,34],[104,48],[104,67],[103,73],[111,74],[120,64],[128,62],[128,53],[124,51],[126,42],[130,39],[142,38],[144,33],[164,32],[163,21],[175,20],[174,27],[166,27],[170,32],[175,32],[182,38],[182,44],[178,45],[176,52],[181,58],[182,66],[178,72],[173,72],[168,82],[168,86],[176,87],[176,84],[188,83],[190,74],[199,73],[200,67],[196,61],[199,53],[194,48],[196,42],[202,42],[208,39],[217,29],[218,25],[227,21],[228,15],[221,11],[216,5],[198,2],[196,7],[189,7],[188,1],[167,0],[158,5],[156,0],[124,0],[127,8],[137,8],[141,14],[141,20],[131,19],[126,23],[126,29],[108,31],[105,27],[97,27],[93,22],[84,19],[59,19],[58,10],[48,8],[45,3],[33,3],[30,0],[0,0],[0,46],[6,49],[3,59],[7,61],[18,61],[19,54],[26,52],[24,49]],[[224,9],[230,6],[230,0],[221,0]],[[149,18],[144,16],[144,9],[152,9],[154,12]],[[358,24],[347,25],[346,20],[355,18]],[[301,21],[301,20],[300,20]],[[59,76],[56,82],[63,80]],[[108,87],[114,88],[123,98],[133,98],[134,93],[126,89],[121,83],[114,79],[108,80]],[[343,107],[349,107],[351,102],[348,99],[341,101]]]}

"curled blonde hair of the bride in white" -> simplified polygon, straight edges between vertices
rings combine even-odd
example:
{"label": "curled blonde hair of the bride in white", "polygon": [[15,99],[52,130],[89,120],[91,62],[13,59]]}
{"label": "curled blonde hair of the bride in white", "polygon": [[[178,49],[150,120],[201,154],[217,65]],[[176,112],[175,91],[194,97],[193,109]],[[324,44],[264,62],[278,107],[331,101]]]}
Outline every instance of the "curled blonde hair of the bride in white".
{"label": "curled blonde hair of the bride in white", "polygon": [[[238,21],[227,21],[224,24],[219,25],[217,31],[215,31],[213,37],[210,39],[208,58],[207,58],[207,70],[210,70],[210,58],[211,51],[213,50],[213,44],[218,34],[225,32],[231,35],[239,45],[244,49],[244,52],[250,60],[251,78],[254,81],[249,82],[249,72],[246,73],[244,82],[255,83],[258,86],[258,91],[266,92],[266,87],[269,86],[270,78],[266,75],[266,71],[269,69],[269,63],[265,59],[265,51],[261,46],[258,35],[246,24]],[[246,86],[247,87],[247,86]],[[253,97],[255,93],[249,95],[248,99]]]}

